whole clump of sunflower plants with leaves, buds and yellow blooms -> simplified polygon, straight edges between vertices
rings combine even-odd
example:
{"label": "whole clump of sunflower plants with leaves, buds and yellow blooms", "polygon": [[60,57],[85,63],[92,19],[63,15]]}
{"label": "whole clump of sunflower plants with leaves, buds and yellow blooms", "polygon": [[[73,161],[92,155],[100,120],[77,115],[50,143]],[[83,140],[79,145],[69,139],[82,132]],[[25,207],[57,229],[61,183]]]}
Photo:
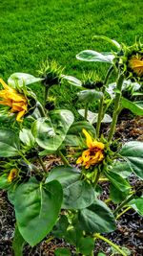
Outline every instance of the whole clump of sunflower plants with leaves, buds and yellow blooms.
{"label": "whole clump of sunflower plants with leaves, buds and yellow blooms", "polygon": [[[76,58],[109,63],[104,81],[92,73],[83,81],[64,75],[55,61],[42,65],[40,78],[14,73],[8,84],[0,80],[0,105],[5,109],[1,117],[7,113],[2,120],[7,122],[12,116],[10,122],[19,124],[16,130],[0,128],[0,188],[8,191],[15,211],[15,256],[22,255],[24,244],[34,246],[47,236],[49,242],[60,238],[74,245],[74,255],[94,255],[96,240],[128,255],[106,234],[116,229],[116,221],[129,209],[143,214],[143,143],[122,145],[114,137],[123,107],[143,115],[142,102],[129,99],[129,93],[142,96],[143,45],[139,41],[128,47],[105,36],[95,38],[107,40],[116,52],[86,50]],[[114,73],[116,80],[111,84]],[[34,82],[41,82],[45,90],[43,103],[30,89]],[[79,88],[78,100],[85,104],[78,109],[83,121],[74,121],[70,110],[54,105],[51,110],[51,86],[62,82]],[[94,102],[96,113],[90,110]],[[102,134],[102,122],[109,123],[108,135]],[[51,153],[60,156],[63,164],[48,170],[44,159]],[[130,183],[132,174],[138,177],[136,186]],[[103,197],[104,182],[109,198]],[[55,255],[71,252],[57,248]]]}

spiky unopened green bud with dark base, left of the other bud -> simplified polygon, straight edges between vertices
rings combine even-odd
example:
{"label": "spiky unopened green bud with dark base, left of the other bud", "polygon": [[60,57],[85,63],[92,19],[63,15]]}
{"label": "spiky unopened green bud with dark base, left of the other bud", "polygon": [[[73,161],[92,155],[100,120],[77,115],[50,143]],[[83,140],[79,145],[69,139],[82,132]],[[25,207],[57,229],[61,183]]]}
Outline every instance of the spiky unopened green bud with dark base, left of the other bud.
{"label": "spiky unopened green bud with dark base, left of the other bud", "polygon": [[59,66],[55,60],[43,62],[39,70],[39,75],[44,79],[42,83],[48,87],[60,84],[63,70],[64,68]]}

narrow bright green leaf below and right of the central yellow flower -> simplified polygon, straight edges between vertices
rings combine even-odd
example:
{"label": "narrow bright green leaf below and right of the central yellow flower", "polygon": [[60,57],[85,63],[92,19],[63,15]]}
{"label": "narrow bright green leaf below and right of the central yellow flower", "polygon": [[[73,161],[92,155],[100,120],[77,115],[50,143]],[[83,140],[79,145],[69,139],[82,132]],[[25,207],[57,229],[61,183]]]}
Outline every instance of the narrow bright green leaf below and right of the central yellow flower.
{"label": "narrow bright green leaf below and right of the central yellow flower", "polygon": [[129,191],[131,186],[128,183],[128,181],[123,178],[122,176],[115,174],[114,172],[110,171],[109,173],[105,173],[105,175],[109,178],[109,180],[112,182],[112,185],[122,191]]}

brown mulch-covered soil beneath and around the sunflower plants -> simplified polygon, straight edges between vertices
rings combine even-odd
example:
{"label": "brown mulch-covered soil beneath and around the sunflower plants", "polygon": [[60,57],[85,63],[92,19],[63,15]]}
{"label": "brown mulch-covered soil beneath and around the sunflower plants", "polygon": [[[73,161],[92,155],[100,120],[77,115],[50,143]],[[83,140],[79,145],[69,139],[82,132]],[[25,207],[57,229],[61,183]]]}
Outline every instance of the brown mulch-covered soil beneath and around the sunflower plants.
{"label": "brown mulch-covered soil beneath and around the sunflower plants", "polygon": [[[103,126],[105,133],[108,133],[108,127]],[[143,118],[135,118],[127,120],[124,117],[120,120],[119,125],[116,128],[115,137],[120,138],[122,142],[130,140],[143,141]],[[49,156],[45,159],[45,164],[47,169],[50,170],[52,166],[61,164],[59,158],[55,156]],[[137,178],[132,175],[131,183],[134,184]],[[108,195],[108,184],[105,183],[104,195],[106,198]],[[136,214],[132,209],[126,214],[122,215],[119,221],[116,221],[117,229],[105,235],[114,244],[119,244],[121,246],[129,248],[132,256],[142,256],[143,255],[143,218]],[[0,256],[12,256],[12,238],[14,233],[15,217],[13,207],[10,204],[7,193],[4,191],[0,192]],[[54,249],[58,247],[69,247],[74,255],[74,247],[70,244],[65,243],[63,240],[51,240],[50,243],[47,242],[48,237],[42,241],[40,244],[31,248],[27,245],[24,248],[24,256],[52,256],[54,255]],[[111,247],[97,240],[94,248],[94,255],[97,255],[99,251],[104,252],[106,255],[112,255]],[[80,254],[79,254],[80,255]],[[120,254],[115,254],[120,255]]]}

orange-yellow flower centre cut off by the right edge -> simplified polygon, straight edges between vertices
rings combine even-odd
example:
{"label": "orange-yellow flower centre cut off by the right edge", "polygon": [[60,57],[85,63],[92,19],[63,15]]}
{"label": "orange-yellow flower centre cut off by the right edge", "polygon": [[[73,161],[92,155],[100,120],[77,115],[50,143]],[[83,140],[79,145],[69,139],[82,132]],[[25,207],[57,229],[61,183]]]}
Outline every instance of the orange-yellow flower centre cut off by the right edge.
{"label": "orange-yellow flower centre cut off by the right edge", "polygon": [[143,76],[143,57],[140,55],[133,56],[129,60],[129,65],[133,72],[138,76],[142,77]]}

